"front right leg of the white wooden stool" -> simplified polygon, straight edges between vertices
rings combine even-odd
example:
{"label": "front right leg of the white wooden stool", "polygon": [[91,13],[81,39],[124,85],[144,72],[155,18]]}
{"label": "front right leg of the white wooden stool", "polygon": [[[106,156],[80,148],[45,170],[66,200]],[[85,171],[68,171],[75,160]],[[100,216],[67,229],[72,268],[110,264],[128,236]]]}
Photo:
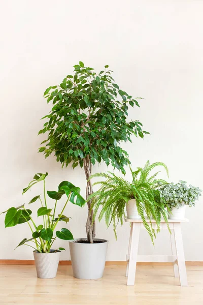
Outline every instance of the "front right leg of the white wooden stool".
{"label": "front right leg of the white wooden stool", "polygon": [[181,231],[180,223],[174,223],[174,234],[176,241],[176,253],[178,260],[180,285],[187,286],[187,273],[185,267],[185,256],[184,256],[183,239],[182,239],[182,231]]}

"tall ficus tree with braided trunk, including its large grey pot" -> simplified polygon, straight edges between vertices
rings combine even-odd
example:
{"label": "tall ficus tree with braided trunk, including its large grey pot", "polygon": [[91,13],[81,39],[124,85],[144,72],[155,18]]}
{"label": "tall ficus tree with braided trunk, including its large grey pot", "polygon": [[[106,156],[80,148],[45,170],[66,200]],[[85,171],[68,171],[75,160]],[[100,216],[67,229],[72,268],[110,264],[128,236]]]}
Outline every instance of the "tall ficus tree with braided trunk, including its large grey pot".
{"label": "tall ficus tree with braided trunk, including its large grey pot", "polygon": [[[58,86],[50,86],[45,91],[47,102],[53,103],[50,113],[41,133],[48,133],[48,137],[42,142],[39,151],[47,158],[51,153],[56,156],[56,161],[63,166],[72,163],[75,168],[80,165],[86,176],[86,199],[93,193],[91,183],[92,166],[95,162],[105,161],[114,168],[125,173],[124,166],[128,164],[128,155],[119,144],[131,141],[132,134],[143,138],[142,124],[139,120],[127,121],[128,107],[139,106],[137,99],[133,99],[114,83],[111,70],[108,65],[99,74],[93,68],[84,67],[82,62],[74,66],[74,75],[67,75]],[[44,144],[46,143],[46,144]],[[86,223],[87,239],[82,238],[80,242],[72,242],[73,252],[78,252],[77,266],[79,269],[88,266],[88,272],[74,276],[83,278],[100,277],[104,270],[104,259],[100,260],[93,247],[99,248],[99,252],[106,257],[107,245],[95,237],[95,222],[93,211],[90,210],[91,200],[87,201],[88,217]],[[96,241],[96,242],[94,242]],[[88,245],[88,244],[91,245]],[[72,251],[73,247],[78,250]],[[102,247],[102,249],[101,249]],[[96,250],[95,250],[96,251]],[[86,256],[82,256],[86,253]],[[101,263],[102,261],[102,263]],[[73,269],[74,269],[74,263]],[[95,269],[98,271],[95,274]]]}

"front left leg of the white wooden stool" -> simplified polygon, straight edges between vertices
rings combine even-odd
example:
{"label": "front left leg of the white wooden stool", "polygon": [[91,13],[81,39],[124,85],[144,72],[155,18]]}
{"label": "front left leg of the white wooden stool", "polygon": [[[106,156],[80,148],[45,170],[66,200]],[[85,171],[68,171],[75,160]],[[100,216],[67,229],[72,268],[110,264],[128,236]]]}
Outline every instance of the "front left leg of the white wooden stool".
{"label": "front left leg of the white wooden stool", "polygon": [[131,247],[129,254],[129,266],[128,266],[128,277],[127,285],[134,285],[136,278],[136,264],[138,257],[138,244],[140,237],[140,223],[132,223],[132,236],[131,236]]}

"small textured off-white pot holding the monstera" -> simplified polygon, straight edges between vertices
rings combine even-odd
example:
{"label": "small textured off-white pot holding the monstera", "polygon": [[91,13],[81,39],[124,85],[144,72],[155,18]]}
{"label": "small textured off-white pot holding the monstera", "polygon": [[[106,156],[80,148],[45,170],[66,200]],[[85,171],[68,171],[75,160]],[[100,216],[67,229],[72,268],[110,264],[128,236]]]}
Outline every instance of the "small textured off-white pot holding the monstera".
{"label": "small textured off-white pot holding the monstera", "polygon": [[60,251],[52,253],[39,253],[33,251],[37,276],[40,279],[53,279],[56,277]]}

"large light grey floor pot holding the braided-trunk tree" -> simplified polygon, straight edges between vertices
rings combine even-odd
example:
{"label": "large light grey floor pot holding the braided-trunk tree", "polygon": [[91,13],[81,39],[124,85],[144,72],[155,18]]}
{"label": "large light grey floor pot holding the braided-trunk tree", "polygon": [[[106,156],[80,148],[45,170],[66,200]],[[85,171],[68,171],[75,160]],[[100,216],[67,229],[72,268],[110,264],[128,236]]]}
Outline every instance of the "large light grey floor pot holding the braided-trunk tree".
{"label": "large light grey floor pot holding the braided-trunk tree", "polygon": [[[87,240],[79,238],[77,240]],[[104,242],[100,243],[79,243],[69,241],[73,275],[78,279],[95,280],[103,277],[108,240],[94,239]]]}

